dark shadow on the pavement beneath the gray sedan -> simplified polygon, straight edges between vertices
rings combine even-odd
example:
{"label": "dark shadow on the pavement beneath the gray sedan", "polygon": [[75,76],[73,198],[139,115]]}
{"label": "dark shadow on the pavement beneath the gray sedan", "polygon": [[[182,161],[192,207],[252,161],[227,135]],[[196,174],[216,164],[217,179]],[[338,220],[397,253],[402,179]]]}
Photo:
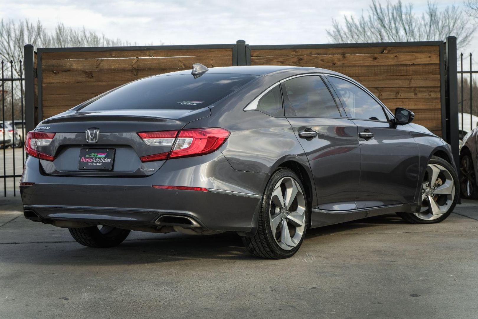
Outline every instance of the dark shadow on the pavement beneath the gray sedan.
{"label": "dark shadow on the pavement beneath the gray sedan", "polygon": [[[309,230],[304,241],[328,234],[339,234],[362,228],[400,223],[395,215],[371,217],[363,220],[325,226]],[[240,237],[234,232],[209,236],[191,236],[179,233],[150,234],[132,232],[130,239],[113,248],[89,248],[76,242],[38,242],[28,244],[28,252],[22,253],[26,244],[17,245],[14,256],[2,258],[12,264],[64,264],[90,265],[134,265],[158,264],[181,260],[261,260],[248,253]],[[35,245],[34,249],[31,245]]]}

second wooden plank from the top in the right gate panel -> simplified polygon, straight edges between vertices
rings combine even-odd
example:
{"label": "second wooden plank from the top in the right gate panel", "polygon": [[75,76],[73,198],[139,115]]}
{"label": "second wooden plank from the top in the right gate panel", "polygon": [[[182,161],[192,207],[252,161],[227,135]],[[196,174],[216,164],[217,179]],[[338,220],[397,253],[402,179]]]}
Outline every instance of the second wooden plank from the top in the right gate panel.
{"label": "second wooden plank from the top in the right gate panel", "polygon": [[434,64],[440,62],[439,53],[396,53],[363,55],[296,55],[296,56],[255,56],[250,58],[253,65],[274,66],[367,66],[400,64]]}

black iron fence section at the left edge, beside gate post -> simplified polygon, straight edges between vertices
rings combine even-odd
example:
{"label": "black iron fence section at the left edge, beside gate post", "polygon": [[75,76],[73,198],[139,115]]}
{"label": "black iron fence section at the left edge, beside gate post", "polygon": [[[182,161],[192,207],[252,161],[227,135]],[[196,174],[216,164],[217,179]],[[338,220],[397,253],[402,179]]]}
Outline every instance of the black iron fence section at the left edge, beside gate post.
{"label": "black iron fence section at the left edge, beside gate post", "polygon": [[[10,76],[10,77],[9,77]],[[22,60],[1,61],[0,78],[0,157],[3,164],[3,196],[17,195],[17,182],[25,163],[24,88]],[[1,173],[0,173],[1,174]]]}

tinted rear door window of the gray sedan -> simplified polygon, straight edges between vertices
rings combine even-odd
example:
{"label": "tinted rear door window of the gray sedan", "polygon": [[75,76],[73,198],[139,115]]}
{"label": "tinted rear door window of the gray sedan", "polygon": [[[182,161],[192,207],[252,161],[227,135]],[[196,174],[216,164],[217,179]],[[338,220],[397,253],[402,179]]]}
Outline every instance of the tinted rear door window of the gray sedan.
{"label": "tinted rear door window of the gray sedan", "polygon": [[340,117],[335,99],[320,76],[295,77],[283,83],[286,115],[298,117]]}

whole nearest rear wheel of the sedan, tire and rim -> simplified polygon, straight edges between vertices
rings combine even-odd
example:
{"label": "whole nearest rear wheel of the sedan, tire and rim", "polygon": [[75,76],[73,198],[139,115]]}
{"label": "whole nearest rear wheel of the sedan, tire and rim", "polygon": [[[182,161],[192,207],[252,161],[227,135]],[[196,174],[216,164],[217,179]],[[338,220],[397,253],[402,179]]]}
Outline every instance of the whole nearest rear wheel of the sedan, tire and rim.
{"label": "whole nearest rear wheel of the sedan, tire and rim", "polygon": [[281,168],[272,175],[263,198],[258,231],[243,237],[244,244],[258,257],[291,257],[302,244],[307,226],[304,187],[291,170]]}

